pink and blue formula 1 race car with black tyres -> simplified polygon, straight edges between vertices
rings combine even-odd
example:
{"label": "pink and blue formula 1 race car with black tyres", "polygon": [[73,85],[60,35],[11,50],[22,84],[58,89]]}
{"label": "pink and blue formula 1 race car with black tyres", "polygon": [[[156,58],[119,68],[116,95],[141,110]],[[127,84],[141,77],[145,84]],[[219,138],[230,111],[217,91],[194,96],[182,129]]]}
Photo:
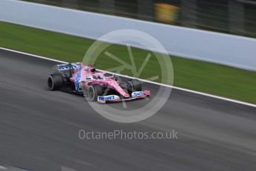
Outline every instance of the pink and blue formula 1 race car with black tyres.
{"label": "pink and blue formula 1 race car with black tyres", "polygon": [[135,100],[150,96],[149,90],[141,90],[138,80],[121,81],[120,77],[97,71],[82,62],[54,65],[54,73],[48,76],[48,88],[68,90],[82,94],[98,103]]}

